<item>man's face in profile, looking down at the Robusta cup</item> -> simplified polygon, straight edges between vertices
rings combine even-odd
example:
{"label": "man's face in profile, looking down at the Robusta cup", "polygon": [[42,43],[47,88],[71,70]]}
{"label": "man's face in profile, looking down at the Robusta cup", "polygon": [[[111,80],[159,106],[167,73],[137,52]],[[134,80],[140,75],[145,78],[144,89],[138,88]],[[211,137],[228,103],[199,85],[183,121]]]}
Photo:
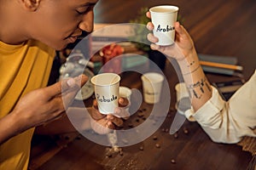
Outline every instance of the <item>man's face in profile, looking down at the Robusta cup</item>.
{"label": "man's face in profile, looking down at the Robusta cup", "polygon": [[82,31],[93,30],[93,8],[98,0],[41,0],[32,16],[31,37],[60,50]]}

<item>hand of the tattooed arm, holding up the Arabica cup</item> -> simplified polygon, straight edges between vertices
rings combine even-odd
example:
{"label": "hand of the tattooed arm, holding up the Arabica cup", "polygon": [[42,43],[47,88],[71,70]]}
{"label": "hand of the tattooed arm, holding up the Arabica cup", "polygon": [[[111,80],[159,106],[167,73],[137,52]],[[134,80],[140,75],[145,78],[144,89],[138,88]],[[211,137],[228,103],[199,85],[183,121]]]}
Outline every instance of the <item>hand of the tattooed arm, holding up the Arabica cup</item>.
{"label": "hand of the tattooed arm, holding up the Arabica cup", "polygon": [[[150,13],[147,12],[147,17],[151,18]],[[155,42],[158,42],[158,38],[154,37],[152,33],[148,34],[148,41],[153,42],[151,48],[154,50],[159,50],[162,54],[166,54],[169,57],[172,57],[177,60],[184,59],[191,54],[195,54],[194,42],[192,41],[189,33],[184,29],[183,26],[176,22],[175,27],[175,44],[170,46],[160,46],[156,45]],[[148,22],[147,28],[149,31],[154,29],[152,22]]]}

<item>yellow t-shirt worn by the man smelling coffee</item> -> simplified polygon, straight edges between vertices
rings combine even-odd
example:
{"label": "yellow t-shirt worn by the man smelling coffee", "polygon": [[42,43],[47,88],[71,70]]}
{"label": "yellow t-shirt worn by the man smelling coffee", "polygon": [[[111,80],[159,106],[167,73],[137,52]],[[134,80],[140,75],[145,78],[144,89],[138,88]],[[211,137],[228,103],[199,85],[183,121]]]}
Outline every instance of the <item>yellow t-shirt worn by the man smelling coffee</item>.
{"label": "yellow t-shirt worn by the man smelling coffee", "polygon": [[[0,118],[28,92],[47,85],[55,50],[30,40],[20,45],[0,42]],[[27,169],[34,128],[0,145],[0,170]]]}

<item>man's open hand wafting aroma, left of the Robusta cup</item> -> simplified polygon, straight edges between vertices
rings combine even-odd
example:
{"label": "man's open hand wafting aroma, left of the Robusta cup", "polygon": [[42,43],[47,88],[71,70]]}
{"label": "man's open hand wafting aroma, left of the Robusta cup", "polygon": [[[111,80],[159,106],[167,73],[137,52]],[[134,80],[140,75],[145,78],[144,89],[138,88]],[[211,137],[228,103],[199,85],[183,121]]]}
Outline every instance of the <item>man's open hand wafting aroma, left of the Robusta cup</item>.
{"label": "man's open hand wafting aroma, left of the Robusta cup", "polygon": [[87,80],[83,75],[34,90],[20,99],[13,112],[26,128],[55,120],[62,116]]}

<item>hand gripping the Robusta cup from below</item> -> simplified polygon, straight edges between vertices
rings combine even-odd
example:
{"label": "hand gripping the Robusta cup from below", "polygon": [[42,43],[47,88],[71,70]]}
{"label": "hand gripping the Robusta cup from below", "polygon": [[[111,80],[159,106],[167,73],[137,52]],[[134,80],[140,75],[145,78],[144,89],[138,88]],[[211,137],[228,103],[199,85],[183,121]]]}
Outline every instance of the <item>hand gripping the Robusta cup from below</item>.
{"label": "hand gripping the Robusta cup from below", "polygon": [[100,134],[110,133],[115,126],[121,127],[123,120],[129,118],[130,114],[126,111],[126,107],[129,105],[128,99],[119,98],[119,107],[117,107],[112,114],[103,115],[98,111],[98,105],[96,99],[93,101],[93,105],[90,111],[91,128]]}

